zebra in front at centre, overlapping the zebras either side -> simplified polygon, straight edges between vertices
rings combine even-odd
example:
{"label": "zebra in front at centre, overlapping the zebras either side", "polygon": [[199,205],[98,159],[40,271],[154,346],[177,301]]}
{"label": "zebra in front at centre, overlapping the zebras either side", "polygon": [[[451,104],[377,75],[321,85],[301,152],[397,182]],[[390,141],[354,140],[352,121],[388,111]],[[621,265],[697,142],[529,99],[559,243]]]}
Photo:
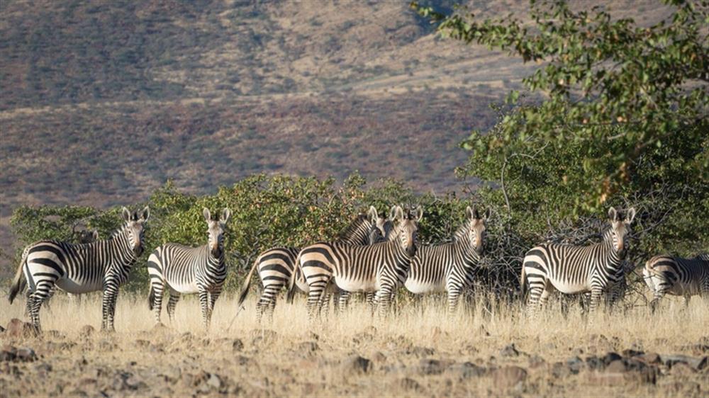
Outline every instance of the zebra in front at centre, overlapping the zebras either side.
{"label": "zebra in front at centre, overlapping the zebras either side", "polygon": [[[393,207],[394,239],[371,246],[343,242],[320,242],[301,250],[298,267],[308,283],[308,316],[313,319],[320,309],[325,290],[331,282],[347,292],[376,292],[379,314],[389,308],[389,300],[398,285],[406,281],[411,258],[416,254],[420,208],[415,216],[403,215]],[[294,277],[289,286],[289,300],[294,293]]]}

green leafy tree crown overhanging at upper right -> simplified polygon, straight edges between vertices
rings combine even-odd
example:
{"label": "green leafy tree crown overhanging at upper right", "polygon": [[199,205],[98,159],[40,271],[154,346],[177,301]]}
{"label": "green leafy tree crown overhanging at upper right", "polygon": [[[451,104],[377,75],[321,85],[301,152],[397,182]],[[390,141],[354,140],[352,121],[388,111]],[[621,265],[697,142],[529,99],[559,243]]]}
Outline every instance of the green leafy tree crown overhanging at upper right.
{"label": "green leafy tree crown overhanging at upper right", "polygon": [[[545,101],[504,115],[493,135],[474,132],[464,143],[476,163],[469,170],[499,174],[515,161],[550,161],[558,172],[530,171],[531,177],[561,187],[556,196],[581,193],[569,207],[574,211],[599,210],[635,180],[645,181],[637,165],[661,157],[658,151],[674,156],[662,167],[689,174],[683,182],[708,183],[709,4],[664,2],[671,15],[647,28],[601,8],[574,12],[566,1],[532,1],[532,26],[413,3],[443,36],[545,65],[523,80]],[[519,96],[510,92],[508,103]],[[570,157],[555,159],[557,152]]]}

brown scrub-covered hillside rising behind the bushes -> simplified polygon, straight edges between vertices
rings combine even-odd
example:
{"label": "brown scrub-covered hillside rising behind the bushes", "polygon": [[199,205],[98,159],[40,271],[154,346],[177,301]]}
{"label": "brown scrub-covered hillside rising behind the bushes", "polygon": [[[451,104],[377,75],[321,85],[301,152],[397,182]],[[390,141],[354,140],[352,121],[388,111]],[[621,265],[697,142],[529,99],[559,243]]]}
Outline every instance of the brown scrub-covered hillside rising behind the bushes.
{"label": "brown scrub-covered hillside rising behind the bushes", "polygon": [[167,178],[357,169],[459,189],[457,144],[534,67],[435,37],[408,1],[4,1],[0,38],[2,247],[16,205],[134,203]]}

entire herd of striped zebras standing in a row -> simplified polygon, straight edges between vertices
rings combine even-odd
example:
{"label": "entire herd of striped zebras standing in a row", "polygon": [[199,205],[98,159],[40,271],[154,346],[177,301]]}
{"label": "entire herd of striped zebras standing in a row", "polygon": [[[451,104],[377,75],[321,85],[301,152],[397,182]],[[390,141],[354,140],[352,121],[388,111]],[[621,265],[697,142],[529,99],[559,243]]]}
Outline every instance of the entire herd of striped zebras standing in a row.
{"label": "entire herd of striped zebras standing in a row", "polygon": [[[208,232],[207,244],[189,247],[164,244],[147,260],[150,275],[149,305],[160,324],[164,292],[169,291],[167,313],[172,320],[182,294],[198,294],[203,324],[208,328],[211,314],[227,274],[224,252],[225,225],[229,209],[216,220],[208,209],[203,217]],[[420,246],[418,224],[423,210],[404,211],[393,206],[388,217],[370,207],[359,215],[336,241],[318,242],[303,248],[275,247],[262,253],[253,264],[239,297],[245,301],[255,271],[262,284],[257,302],[257,317],[272,317],[279,292],[288,285],[292,300],[300,290],[308,295],[308,315],[318,317],[335,296],[336,307],[347,306],[354,292],[367,294],[367,301],[384,315],[399,288],[413,294],[447,292],[449,311],[456,309],[464,290],[471,288],[484,250],[486,222],[474,207],[467,207],[463,224],[450,243]],[[622,266],[627,253],[630,225],[635,209],[611,207],[610,228],[598,244],[574,246],[540,244],[524,257],[520,283],[528,292],[527,308],[534,312],[553,290],[564,294],[584,293],[591,310],[598,307],[601,295],[625,280]],[[57,288],[71,294],[101,290],[102,329],[112,331],[118,289],[128,280],[131,268],[143,254],[144,226],[150,210],[130,212],[123,207],[123,224],[108,239],[95,233],[86,243],[71,244],[45,240],[28,246],[13,278],[9,300],[28,288],[27,312],[40,331],[39,311]],[[692,295],[709,299],[709,254],[695,258],[655,256],[644,266],[645,283],[653,294],[651,308],[665,294]]]}

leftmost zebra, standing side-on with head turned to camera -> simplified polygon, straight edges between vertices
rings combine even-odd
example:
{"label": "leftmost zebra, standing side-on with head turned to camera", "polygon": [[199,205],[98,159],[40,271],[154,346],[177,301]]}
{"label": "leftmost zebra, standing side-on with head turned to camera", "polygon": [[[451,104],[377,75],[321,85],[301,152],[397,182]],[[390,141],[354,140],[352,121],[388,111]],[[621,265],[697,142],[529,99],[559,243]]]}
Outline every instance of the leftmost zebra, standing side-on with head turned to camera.
{"label": "leftmost zebra, standing side-on with head turned to camera", "polygon": [[18,266],[10,288],[12,304],[26,284],[32,293],[28,297],[27,311],[35,329],[40,332],[40,307],[52,296],[55,286],[66,292],[79,294],[102,290],[101,329],[115,330],[113,315],[116,312],[118,288],[128,280],[130,268],[143,254],[144,225],[150,218],[146,206],[138,212],[123,207],[123,225],[110,238],[89,244],[71,244],[57,240],[39,241],[29,246],[26,256]]}

